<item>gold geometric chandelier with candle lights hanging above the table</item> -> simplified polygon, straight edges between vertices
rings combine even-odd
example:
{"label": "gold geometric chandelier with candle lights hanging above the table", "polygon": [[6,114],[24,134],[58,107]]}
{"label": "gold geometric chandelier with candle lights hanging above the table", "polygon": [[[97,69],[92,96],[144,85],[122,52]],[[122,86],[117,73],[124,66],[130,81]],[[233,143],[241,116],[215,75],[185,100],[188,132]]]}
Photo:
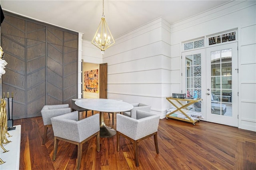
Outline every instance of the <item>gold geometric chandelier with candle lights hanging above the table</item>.
{"label": "gold geometric chandelier with candle lights hanging above the table", "polygon": [[92,44],[98,47],[101,50],[101,53],[104,54],[105,49],[110,47],[115,43],[114,38],[108,28],[108,25],[104,16],[104,0],[102,3],[102,17],[98,29],[92,39]]}

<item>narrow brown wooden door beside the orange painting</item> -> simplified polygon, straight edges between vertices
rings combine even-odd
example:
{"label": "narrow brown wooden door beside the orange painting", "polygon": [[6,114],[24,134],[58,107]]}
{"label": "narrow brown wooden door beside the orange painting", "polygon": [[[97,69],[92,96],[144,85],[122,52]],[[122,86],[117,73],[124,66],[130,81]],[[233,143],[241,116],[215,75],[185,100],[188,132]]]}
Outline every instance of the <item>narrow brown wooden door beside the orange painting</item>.
{"label": "narrow brown wooden door beside the orange painting", "polygon": [[100,64],[100,99],[107,99],[108,63]]}

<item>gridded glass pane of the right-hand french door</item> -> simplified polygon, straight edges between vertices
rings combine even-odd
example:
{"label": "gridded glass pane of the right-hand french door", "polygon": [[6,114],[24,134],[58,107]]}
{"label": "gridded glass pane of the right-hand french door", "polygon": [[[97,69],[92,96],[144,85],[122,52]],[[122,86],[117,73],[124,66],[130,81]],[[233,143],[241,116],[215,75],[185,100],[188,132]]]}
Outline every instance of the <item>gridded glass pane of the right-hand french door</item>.
{"label": "gridded glass pane of the right-hand french door", "polygon": [[232,116],[232,49],[211,52],[212,114]]}

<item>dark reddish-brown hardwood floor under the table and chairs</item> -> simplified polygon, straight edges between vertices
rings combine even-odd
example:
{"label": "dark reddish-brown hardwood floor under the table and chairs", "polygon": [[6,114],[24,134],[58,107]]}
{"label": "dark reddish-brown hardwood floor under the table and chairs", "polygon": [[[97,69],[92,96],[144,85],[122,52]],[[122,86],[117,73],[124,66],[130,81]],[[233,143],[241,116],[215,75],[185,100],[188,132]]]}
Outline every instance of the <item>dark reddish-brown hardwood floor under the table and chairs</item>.
{"label": "dark reddish-brown hardwood floor under the table and chairs", "polygon": [[[80,115],[84,117],[85,114]],[[104,116],[106,125],[113,127],[108,114]],[[42,145],[42,117],[18,119],[14,125],[21,125],[20,170],[75,168],[77,148],[74,144],[60,141],[56,160],[52,161],[53,130],[48,128],[45,145]],[[256,132],[248,130],[204,121],[192,125],[161,119],[158,146],[159,154],[156,154],[153,136],[139,142],[140,166],[136,167],[133,146],[128,139],[120,136],[120,151],[117,152],[116,136],[100,138],[100,152],[97,152],[96,138],[92,138],[83,145],[81,169],[256,170]]]}

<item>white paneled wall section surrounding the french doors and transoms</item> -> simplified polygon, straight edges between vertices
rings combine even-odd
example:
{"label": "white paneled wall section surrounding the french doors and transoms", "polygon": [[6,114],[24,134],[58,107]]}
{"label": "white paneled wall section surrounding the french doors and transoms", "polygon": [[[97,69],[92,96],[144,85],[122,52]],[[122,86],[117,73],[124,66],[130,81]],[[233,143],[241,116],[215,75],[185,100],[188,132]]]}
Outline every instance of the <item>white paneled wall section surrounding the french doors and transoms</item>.
{"label": "white paneled wall section surrounding the french doors and transoms", "polygon": [[181,44],[196,38],[238,29],[239,123],[256,131],[256,1],[232,1],[171,26],[172,90],[181,86]]}

